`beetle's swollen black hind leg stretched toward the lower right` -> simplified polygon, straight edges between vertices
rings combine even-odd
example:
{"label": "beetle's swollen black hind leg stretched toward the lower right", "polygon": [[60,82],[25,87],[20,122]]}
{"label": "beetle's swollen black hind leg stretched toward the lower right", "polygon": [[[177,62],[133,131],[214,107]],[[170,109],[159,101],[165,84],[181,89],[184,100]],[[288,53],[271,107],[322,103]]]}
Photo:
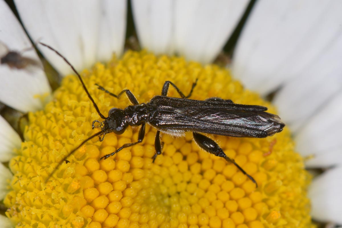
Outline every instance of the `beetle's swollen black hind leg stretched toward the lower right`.
{"label": "beetle's swollen black hind leg stretched toward the lower right", "polygon": [[243,174],[245,174],[252,182],[258,187],[257,182],[254,178],[246,173],[235,161],[234,159],[229,158],[222,150],[222,148],[211,138],[208,138],[205,135],[199,134],[197,132],[193,132],[194,140],[197,145],[203,150],[212,153],[218,157],[224,158],[229,163],[233,163]]}

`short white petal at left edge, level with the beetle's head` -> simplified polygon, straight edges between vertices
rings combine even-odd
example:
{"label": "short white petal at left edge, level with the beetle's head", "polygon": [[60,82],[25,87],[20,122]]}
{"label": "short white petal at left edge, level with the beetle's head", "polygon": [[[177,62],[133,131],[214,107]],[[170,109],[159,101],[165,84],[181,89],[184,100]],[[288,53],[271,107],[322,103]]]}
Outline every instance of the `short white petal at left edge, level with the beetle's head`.
{"label": "short white petal at left edge, level with the beetle's head", "polygon": [[0,116],[0,162],[8,162],[15,156],[14,149],[19,149],[21,139],[11,125]]}

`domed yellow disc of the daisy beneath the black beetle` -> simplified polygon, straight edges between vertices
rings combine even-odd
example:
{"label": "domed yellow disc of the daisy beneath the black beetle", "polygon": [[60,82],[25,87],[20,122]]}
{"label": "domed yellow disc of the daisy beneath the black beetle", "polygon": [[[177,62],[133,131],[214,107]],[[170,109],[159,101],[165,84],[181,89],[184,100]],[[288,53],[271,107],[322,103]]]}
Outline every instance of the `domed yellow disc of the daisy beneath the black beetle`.
{"label": "domed yellow disc of the daisy beneath the black beetle", "polygon": [[[259,95],[244,90],[229,71],[201,66],[180,57],[128,51],[121,60],[95,64],[81,76],[101,112],[130,105],[95,83],[118,94],[129,89],[140,103],[161,94],[170,80],[187,94],[198,79],[191,99],[231,99],[234,103],[275,109]],[[168,96],[179,97],[172,86]],[[192,134],[161,134],[162,155],[155,162],[156,129],[146,126],[142,143],[106,160],[100,158],[125,143],[136,142],[138,128],[121,135],[95,137],[58,162],[83,140],[101,129],[103,121],[75,76],[67,76],[42,111],[29,113],[25,142],[9,166],[14,174],[4,204],[6,215],[19,227],[313,227],[306,196],[310,175],[293,151],[285,128],[263,139],[210,136],[258,183],[236,166],[203,152]],[[100,135],[102,137],[102,135]]]}

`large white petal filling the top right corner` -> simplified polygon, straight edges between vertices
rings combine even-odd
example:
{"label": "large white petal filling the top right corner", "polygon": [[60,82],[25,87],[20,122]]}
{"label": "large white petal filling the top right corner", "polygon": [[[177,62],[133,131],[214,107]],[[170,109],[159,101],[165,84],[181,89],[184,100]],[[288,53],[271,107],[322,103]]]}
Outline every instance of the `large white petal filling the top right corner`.
{"label": "large white petal filling the top right corner", "polygon": [[234,55],[233,73],[248,88],[267,94],[308,72],[339,42],[339,0],[258,1]]}

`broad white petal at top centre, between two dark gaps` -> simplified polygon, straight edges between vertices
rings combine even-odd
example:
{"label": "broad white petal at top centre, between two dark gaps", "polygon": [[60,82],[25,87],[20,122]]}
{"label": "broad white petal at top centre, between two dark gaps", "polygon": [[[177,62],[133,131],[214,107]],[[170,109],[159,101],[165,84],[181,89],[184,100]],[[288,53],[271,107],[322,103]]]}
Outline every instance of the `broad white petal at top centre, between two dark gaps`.
{"label": "broad white petal at top centre, between two dark gaps", "polygon": [[134,22],[144,48],[213,61],[248,1],[133,0]]}

